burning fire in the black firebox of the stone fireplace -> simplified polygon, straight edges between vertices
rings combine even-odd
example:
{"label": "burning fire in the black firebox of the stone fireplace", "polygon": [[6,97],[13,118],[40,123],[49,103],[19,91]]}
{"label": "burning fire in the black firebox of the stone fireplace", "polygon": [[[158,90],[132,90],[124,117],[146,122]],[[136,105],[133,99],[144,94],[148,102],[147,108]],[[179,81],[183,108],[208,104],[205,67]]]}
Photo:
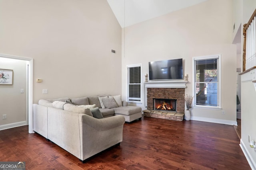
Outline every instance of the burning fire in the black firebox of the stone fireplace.
{"label": "burning fire in the black firebox of the stone fireplace", "polygon": [[177,111],[176,99],[154,99],[153,102],[154,110]]}

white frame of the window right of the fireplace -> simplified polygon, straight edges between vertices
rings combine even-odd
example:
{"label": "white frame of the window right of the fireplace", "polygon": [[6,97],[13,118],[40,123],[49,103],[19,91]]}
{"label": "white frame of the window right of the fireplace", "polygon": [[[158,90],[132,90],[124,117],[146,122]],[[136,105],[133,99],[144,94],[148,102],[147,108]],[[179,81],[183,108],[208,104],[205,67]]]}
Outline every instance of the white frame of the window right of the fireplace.
{"label": "white frame of the window right of the fireplace", "polygon": [[[219,87],[219,94],[217,95],[217,102],[218,106],[205,106],[205,105],[197,105],[196,104],[196,68],[195,68],[195,61],[198,60],[207,60],[207,59],[216,59],[218,58],[218,87]],[[193,73],[193,107],[195,108],[204,108],[204,109],[221,109],[221,55],[208,55],[208,56],[201,56],[201,57],[193,57],[193,63],[192,63],[192,73]]]}

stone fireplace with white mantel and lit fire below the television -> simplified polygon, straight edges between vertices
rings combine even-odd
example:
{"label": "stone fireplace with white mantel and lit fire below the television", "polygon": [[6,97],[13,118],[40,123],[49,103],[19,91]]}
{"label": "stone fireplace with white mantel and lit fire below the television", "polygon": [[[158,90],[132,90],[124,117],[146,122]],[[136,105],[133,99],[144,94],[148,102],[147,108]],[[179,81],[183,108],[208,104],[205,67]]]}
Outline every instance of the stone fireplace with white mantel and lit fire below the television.
{"label": "stone fireplace with white mantel and lit fire below the television", "polygon": [[145,82],[147,109],[144,116],[182,121],[185,111],[186,81]]}

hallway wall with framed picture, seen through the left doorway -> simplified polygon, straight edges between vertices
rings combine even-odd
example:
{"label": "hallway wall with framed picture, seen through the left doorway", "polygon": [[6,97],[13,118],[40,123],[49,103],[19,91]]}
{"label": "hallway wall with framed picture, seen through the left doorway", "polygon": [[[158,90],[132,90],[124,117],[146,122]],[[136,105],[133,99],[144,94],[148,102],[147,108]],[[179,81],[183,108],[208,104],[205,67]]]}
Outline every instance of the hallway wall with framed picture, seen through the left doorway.
{"label": "hallway wall with framed picture, seen through the left doorway", "polygon": [[[26,61],[0,57],[0,69],[13,70],[13,84],[0,85],[0,126],[17,122],[25,125]],[[20,93],[20,89],[24,89],[24,93]],[[6,115],[6,119],[2,119],[2,115]]]}

